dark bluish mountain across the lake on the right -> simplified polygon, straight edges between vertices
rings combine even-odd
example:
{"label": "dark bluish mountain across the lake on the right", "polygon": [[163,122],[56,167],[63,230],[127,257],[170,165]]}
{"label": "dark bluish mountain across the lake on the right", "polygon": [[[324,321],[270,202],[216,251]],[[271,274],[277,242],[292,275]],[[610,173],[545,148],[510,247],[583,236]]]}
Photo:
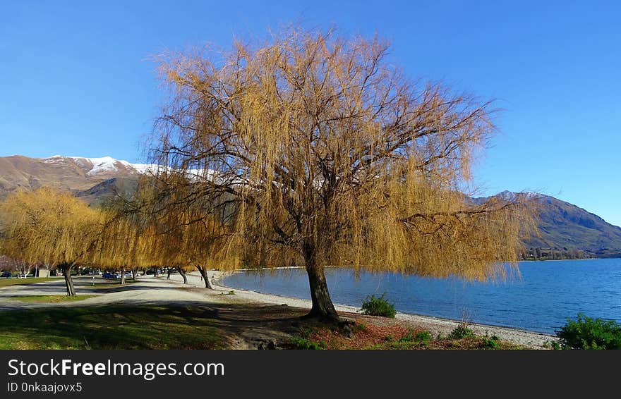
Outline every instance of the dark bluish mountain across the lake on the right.
{"label": "dark bluish mountain across the lake on the right", "polygon": [[[503,191],[502,200],[521,196],[538,208],[538,233],[524,240],[526,257],[621,257],[621,227],[574,204],[535,192]],[[475,198],[481,203],[488,197]]]}

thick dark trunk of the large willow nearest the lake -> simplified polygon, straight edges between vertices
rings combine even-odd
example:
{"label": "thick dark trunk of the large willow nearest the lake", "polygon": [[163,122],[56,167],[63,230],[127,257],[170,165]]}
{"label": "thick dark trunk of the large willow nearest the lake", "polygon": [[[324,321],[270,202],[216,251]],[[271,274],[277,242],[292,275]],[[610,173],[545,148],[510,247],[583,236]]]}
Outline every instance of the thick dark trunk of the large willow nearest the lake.
{"label": "thick dark trunk of the large willow nearest the lake", "polygon": [[323,266],[317,264],[314,245],[304,245],[304,262],[308,283],[310,284],[310,298],[313,300],[313,307],[306,315],[307,318],[320,319],[321,321],[339,321],[339,315],[330,293],[327,290]]}

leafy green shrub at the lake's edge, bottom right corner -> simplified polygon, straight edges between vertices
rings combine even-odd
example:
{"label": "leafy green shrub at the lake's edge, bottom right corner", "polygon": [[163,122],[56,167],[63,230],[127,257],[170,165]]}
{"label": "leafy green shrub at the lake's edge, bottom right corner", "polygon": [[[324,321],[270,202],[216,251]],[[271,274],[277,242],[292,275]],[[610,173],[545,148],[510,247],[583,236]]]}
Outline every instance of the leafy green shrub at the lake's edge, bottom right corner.
{"label": "leafy green shrub at the lake's edge, bottom right corner", "polygon": [[581,313],[577,320],[567,319],[557,336],[564,349],[621,349],[621,325]]}

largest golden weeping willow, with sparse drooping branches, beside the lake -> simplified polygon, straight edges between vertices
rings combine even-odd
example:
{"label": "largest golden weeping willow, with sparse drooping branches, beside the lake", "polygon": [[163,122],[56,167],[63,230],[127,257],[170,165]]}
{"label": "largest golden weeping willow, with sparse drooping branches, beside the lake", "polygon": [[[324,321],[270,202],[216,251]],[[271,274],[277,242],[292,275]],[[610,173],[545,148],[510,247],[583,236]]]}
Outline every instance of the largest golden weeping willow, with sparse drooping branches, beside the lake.
{"label": "largest golden weeping willow, with sparse drooping branches, beside the lake", "polygon": [[324,267],[486,280],[514,261],[521,204],[469,201],[489,102],[407,78],[382,39],[291,29],[172,54],[155,160],[234,215],[246,266],[304,266],[310,317],[337,319]]}

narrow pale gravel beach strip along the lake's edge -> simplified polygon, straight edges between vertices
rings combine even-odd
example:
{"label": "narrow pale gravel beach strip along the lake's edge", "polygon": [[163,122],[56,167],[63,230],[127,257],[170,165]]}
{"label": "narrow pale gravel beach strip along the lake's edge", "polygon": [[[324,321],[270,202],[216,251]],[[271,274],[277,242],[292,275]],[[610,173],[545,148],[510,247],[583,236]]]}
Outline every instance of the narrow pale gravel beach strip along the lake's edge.
{"label": "narrow pale gravel beach strip along the lake's edge", "polygon": [[[291,269],[291,268],[288,268]],[[244,269],[238,269],[235,271],[214,271],[210,270],[210,274],[212,274],[212,285],[214,288],[220,290],[235,290],[237,293],[243,293],[244,299],[253,300],[255,302],[263,302],[270,305],[288,305],[291,307],[300,307],[303,309],[310,309],[312,302],[310,300],[305,300],[296,297],[287,297],[283,295],[276,295],[270,293],[260,293],[258,291],[253,290],[245,290],[242,288],[234,288],[225,286],[222,283],[222,279],[230,276],[231,274],[246,271]],[[361,314],[359,307],[354,307],[351,305],[342,305],[342,304],[334,304],[334,307],[337,309],[337,312],[346,312],[351,314]],[[404,313],[397,312],[395,315],[395,319],[406,321],[409,323],[417,324],[422,328],[430,331],[433,335],[437,336],[438,334],[448,334],[453,329],[455,329],[461,321],[454,319],[444,319],[441,317],[433,317],[426,316],[423,314],[412,314],[412,313]],[[469,323],[469,328],[474,331],[477,335],[485,336],[498,336],[503,340],[510,340],[514,343],[519,343],[521,345],[526,345],[531,348],[543,348],[543,345],[546,343],[550,343],[550,341],[557,340],[556,336],[552,336],[546,333],[540,333],[537,331],[527,331],[522,329],[514,329],[512,327],[504,327],[504,326],[493,326],[490,324],[477,324],[477,323]]]}

